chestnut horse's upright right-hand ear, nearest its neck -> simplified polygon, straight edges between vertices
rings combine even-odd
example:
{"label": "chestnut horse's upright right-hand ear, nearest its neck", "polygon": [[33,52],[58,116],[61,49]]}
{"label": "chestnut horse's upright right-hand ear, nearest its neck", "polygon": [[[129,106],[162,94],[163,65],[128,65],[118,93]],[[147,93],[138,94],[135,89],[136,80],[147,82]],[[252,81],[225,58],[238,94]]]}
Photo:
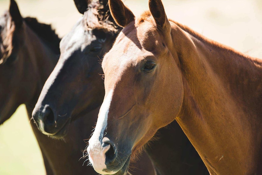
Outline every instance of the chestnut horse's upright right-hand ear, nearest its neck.
{"label": "chestnut horse's upright right-hand ear, nearest its neck", "polygon": [[159,29],[170,28],[170,23],[161,0],[149,0],[149,9]]}

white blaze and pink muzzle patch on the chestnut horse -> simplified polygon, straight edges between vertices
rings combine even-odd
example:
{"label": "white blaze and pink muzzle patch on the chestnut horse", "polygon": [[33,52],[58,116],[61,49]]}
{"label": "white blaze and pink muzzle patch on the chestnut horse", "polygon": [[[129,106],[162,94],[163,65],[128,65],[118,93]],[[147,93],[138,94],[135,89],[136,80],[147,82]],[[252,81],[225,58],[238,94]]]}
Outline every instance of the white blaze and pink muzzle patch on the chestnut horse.
{"label": "white blaze and pink muzzle patch on the chestnut horse", "polygon": [[110,149],[110,145],[102,147],[99,137],[103,137],[104,131],[107,127],[107,117],[109,112],[110,103],[112,100],[113,90],[110,90],[105,97],[101,108],[99,110],[98,119],[95,127],[95,131],[89,140],[89,146],[87,148],[89,160],[92,163],[95,171],[100,174],[115,174],[117,172],[105,172],[105,153]]}

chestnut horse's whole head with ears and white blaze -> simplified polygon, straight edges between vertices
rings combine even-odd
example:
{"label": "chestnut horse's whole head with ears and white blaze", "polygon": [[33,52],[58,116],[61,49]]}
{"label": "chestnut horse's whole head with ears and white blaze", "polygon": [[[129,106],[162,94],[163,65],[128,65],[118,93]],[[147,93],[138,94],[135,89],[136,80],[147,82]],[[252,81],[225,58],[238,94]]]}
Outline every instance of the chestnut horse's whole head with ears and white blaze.
{"label": "chestnut horse's whole head with ears and white blaze", "polygon": [[102,62],[105,98],[88,153],[98,173],[123,175],[130,157],[180,112],[183,84],[178,58],[171,54],[171,26],[165,13],[160,27],[149,12],[135,22],[120,0],[109,5],[124,29]]}

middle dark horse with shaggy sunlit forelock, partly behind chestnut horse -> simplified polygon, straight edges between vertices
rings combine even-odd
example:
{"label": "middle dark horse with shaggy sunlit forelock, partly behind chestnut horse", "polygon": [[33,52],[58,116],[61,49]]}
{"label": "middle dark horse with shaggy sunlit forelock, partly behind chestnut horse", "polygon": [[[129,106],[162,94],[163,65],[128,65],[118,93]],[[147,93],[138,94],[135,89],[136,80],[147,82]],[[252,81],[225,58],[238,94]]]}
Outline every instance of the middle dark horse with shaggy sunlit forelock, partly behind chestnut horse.
{"label": "middle dark horse with shaggy sunlit forelock, partly behind chestnut horse", "polygon": [[[62,39],[60,59],[33,112],[40,131],[57,138],[70,132],[70,121],[100,108],[105,90],[98,60],[109,51],[121,30],[108,11],[107,1],[91,3],[89,8],[86,2],[79,1],[76,6],[84,16]],[[84,129],[91,134],[97,116],[88,114],[84,117],[90,120]],[[180,141],[170,139],[171,135]],[[176,121],[161,129],[157,137],[147,152],[158,174],[208,174]],[[142,162],[140,160],[135,166]]]}

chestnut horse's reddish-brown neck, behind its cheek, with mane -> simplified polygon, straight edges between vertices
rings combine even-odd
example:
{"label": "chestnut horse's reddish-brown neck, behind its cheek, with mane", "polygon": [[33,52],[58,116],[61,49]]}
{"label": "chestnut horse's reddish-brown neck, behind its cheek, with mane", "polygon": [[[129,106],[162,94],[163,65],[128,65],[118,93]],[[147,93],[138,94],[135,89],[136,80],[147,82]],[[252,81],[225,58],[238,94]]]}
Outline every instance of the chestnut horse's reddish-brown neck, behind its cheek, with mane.
{"label": "chestnut horse's reddish-brown neck, behind its cheek, with mane", "polygon": [[176,120],[211,174],[258,173],[262,63],[177,25],[184,101]]}

